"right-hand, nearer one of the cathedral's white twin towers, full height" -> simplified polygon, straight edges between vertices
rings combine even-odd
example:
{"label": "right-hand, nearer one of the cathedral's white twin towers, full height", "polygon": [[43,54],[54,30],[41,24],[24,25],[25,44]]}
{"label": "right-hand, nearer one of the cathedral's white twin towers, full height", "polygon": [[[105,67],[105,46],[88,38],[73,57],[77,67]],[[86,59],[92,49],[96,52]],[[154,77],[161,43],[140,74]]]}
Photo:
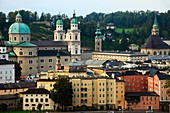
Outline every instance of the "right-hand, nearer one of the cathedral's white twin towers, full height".
{"label": "right-hand, nearer one of the cathedral's white twin towers, full height", "polygon": [[74,12],[73,18],[70,22],[70,29],[66,34],[66,40],[68,42],[68,51],[71,53],[72,62],[81,60],[81,41],[80,30],[78,29],[78,20]]}

